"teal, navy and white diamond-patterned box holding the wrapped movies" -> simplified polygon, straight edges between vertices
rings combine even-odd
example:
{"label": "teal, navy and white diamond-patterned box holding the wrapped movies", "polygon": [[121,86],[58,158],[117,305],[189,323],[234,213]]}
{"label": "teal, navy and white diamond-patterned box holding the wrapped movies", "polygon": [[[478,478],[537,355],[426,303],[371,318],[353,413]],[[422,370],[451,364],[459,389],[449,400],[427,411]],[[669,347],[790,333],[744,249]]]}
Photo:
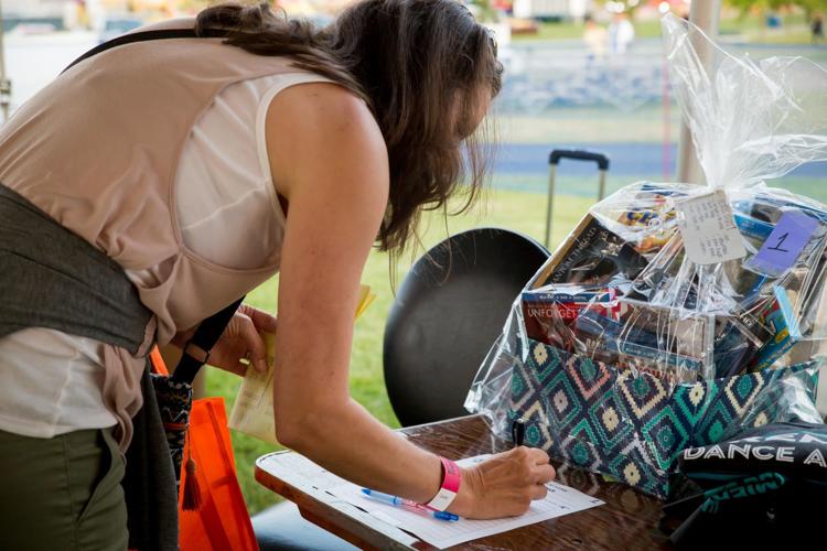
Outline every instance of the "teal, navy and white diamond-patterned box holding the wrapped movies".
{"label": "teal, navy and white diamond-patterned box holding the wrapped movies", "polygon": [[525,443],[662,499],[684,449],[791,419],[791,385],[815,400],[816,361],[670,386],[536,341],[528,348],[508,412],[526,421]]}

